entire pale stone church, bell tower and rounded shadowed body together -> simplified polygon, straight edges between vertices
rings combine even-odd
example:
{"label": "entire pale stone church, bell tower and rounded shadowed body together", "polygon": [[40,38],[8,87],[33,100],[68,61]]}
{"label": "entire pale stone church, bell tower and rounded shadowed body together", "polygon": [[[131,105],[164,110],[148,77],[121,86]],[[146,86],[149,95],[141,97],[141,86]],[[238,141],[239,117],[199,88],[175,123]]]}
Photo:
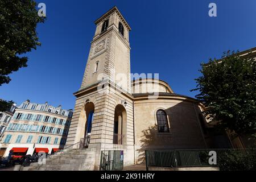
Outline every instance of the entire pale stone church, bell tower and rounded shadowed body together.
{"label": "entire pale stone church, bell tower and rounded shadowed body together", "polygon": [[66,147],[82,142],[95,152],[97,170],[102,151],[121,151],[129,166],[144,163],[145,150],[207,148],[201,103],[174,93],[167,82],[131,75],[131,27],[117,7],[94,23]]}

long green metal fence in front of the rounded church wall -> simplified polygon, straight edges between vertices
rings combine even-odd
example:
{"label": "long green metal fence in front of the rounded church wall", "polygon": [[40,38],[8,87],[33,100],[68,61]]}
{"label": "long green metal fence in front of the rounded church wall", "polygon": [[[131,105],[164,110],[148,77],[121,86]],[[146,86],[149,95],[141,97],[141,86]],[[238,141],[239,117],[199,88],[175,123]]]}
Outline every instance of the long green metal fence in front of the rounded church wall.
{"label": "long green metal fence in front of the rounded church wall", "polygon": [[[188,150],[146,150],[146,168],[148,167],[213,167],[209,164],[209,152],[218,156],[232,151],[246,153],[250,149],[188,149]],[[217,165],[215,165],[217,166]]]}

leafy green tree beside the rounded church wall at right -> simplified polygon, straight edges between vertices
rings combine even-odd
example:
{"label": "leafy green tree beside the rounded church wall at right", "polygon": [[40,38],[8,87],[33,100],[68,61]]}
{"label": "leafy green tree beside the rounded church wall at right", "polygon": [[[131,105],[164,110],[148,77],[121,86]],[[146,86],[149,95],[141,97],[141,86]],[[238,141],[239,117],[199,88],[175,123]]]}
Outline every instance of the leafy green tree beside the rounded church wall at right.
{"label": "leafy green tree beside the rounded church wall at right", "polygon": [[202,63],[200,72],[193,90],[200,92],[196,98],[206,106],[204,114],[220,130],[255,137],[256,61],[228,51],[221,60]]}

